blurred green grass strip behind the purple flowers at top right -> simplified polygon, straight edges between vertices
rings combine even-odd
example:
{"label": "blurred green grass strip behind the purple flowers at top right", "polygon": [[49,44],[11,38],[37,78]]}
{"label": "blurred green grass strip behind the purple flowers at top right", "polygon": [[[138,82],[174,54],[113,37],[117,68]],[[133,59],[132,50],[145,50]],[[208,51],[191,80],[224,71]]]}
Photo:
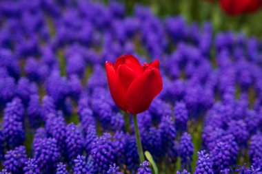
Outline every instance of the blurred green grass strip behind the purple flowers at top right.
{"label": "blurred green grass strip behind the purple flowers at top right", "polygon": [[[110,0],[104,0],[108,3]],[[212,22],[214,31],[234,30],[248,36],[261,36],[262,11],[230,16],[220,6],[219,1],[212,0],[121,0],[125,4],[128,14],[132,14],[134,6],[141,3],[150,6],[154,14],[159,17],[181,15],[189,23]],[[235,1],[241,3],[242,0]],[[256,1],[256,0],[254,0]],[[229,2],[230,3],[230,2]]]}

